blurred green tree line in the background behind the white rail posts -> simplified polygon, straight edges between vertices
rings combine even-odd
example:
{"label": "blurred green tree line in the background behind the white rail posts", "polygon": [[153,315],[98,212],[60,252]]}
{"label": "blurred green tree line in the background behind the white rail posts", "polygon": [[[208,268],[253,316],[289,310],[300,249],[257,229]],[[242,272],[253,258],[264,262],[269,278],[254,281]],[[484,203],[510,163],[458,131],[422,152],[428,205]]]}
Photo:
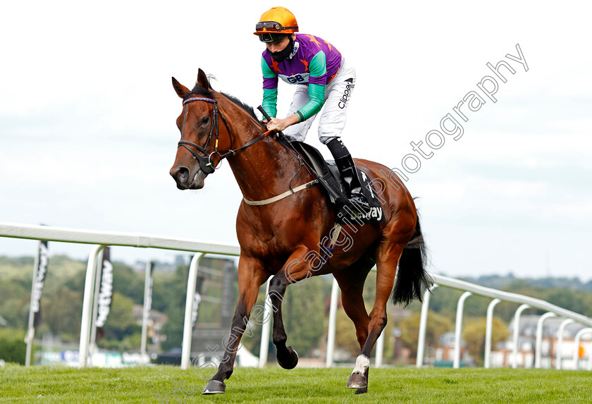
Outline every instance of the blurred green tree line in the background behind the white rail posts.
{"label": "blurred green tree line in the background behind the white rail posts", "polygon": [[[0,317],[5,322],[0,325],[3,331],[0,333],[0,339],[3,335],[9,335],[12,338],[11,341],[16,341],[18,338],[14,337],[16,334],[13,331],[18,331],[20,335],[26,330],[33,261],[32,257],[0,257]],[[41,299],[42,324],[36,330],[38,338],[44,331],[49,331],[56,336],[61,336],[63,341],[79,341],[85,269],[86,262],[60,255],[50,257]],[[153,272],[152,310],[162,312],[168,317],[168,322],[162,330],[166,340],[161,343],[161,350],[166,351],[181,346],[188,270],[187,265],[180,265],[172,272]],[[492,286],[487,283],[492,281],[493,287],[547,300],[567,310],[592,317],[592,293],[588,290],[592,282],[581,283],[579,279],[568,282],[565,278],[559,278],[558,287],[555,287],[552,279],[545,278],[543,283],[537,283],[507,276],[504,283],[502,277],[495,276],[470,279],[470,281],[481,283],[483,286]],[[288,335],[288,345],[292,345],[301,357],[323,357],[324,355],[332,280],[332,276],[317,276],[304,285],[290,286],[285,294],[283,319]],[[376,275],[373,271],[364,285],[364,303],[367,312],[370,312],[374,305],[375,288]],[[592,288],[589,289],[592,290]],[[213,287],[208,293],[214,297],[218,296]],[[426,341],[428,347],[435,346],[443,333],[453,331],[457,300],[461,294],[462,291],[450,288],[440,287],[433,290],[430,300],[431,311],[428,314],[428,341]],[[258,305],[263,305],[263,298],[264,286],[261,286]],[[133,318],[132,308],[134,305],[142,305],[143,299],[143,271],[133,271],[125,264],[113,262],[111,312],[104,327],[105,337],[98,341],[99,347],[113,350],[139,350],[141,327]],[[238,286],[233,283],[233,309],[237,299]],[[488,298],[470,296],[465,304],[463,338],[469,345],[469,351],[476,358],[481,357],[480,353],[483,349],[484,317],[490,301],[491,299]],[[504,302],[495,307],[495,316],[498,319],[495,319],[494,343],[505,338],[506,324],[510,322],[516,308],[517,305]],[[407,307],[409,310],[407,317],[397,318],[391,315],[394,309],[389,305],[389,321],[384,331],[387,338],[384,355],[386,360],[395,354],[395,341],[409,349],[411,358],[414,359],[420,309],[421,305],[413,302]],[[198,322],[215,322],[219,315],[217,310],[219,305],[202,301],[199,306]],[[258,355],[261,326],[251,325],[254,334],[250,338],[243,338],[242,343],[252,353]],[[0,346],[4,346],[1,343],[0,341]],[[338,311],[335,344],[340,350],[352,356],[359,353],[354,326],[343,309]],[[270,345],[271,352],[274,352],[271,342]],[[274,360],[271,353],[270,360]]]}

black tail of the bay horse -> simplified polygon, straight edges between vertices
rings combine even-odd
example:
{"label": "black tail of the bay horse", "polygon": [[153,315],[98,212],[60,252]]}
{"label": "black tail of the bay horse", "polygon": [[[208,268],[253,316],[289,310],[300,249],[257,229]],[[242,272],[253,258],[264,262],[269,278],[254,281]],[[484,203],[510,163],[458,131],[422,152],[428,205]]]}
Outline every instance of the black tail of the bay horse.
{"label": "black tail of the bay horse", "polygon": [[427,251],[424,236],[421,235],[419,215],[415,231],[409,243],[403,250],[399,259],[397,270],[397,282],[393,290],[393,303],[402,304],[405,307],[414,299],[421,302],[426,288],[431,288],[433,279],[426,271]]}

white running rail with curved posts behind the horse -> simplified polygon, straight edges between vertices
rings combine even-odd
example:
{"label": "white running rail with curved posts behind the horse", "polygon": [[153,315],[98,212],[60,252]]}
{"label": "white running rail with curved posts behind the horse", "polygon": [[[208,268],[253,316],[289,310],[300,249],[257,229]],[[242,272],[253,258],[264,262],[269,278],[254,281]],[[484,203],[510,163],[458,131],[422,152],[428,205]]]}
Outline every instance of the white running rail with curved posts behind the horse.
{"label": "white running rail with curved posts behind the horse", "polygon": [[[92,230],[80,230],[75,228],[62,228],[62,227],[54,227],[54,226],[36,226],[36,225],[29,225],[29,224],[15,224],[15,223],[8,223],[0,221],[0,237],[9,237],[9,238],[24,238],[30,240],[48,240],[48,241],[58,241],[58,242],[65,242],[65,243],[83,243],[83,244],[90,244],[93,245],[92,252],[89,257],[89,262],[87,266],[87,274],[86,274],[86,281],[85,281],[85,293],[84,293],[84,303],[82,308],[82,325],[80,329],[80,367],[87,366],[87,354],[89,350],[89,342],[90,342],[90,331],[91,331],[91,317],[92,317],[92,295],[94,293],[94,282],[96,279],[96,271],[97,271],[97,257],[99,252],[105,247],[106,245],[119,245],[119,246],[128,246],[128,247],[144,247],[144,248],[160,248],[165,250],[179,250],[179,251],[190,251],[190,252],[197,252],[198,254],[195,255],[191,265],[190,265],[190,274],[189,279],[187,280],[187,302],[185,305],[185,326],[183,331],[183,354],[181,358],[181,367],[182,369],[188,369],[190,366],[190,347],[191,347],[191,315],[192,315],[192,305],[194,301],[194,291],[195,291],[195,281],[197,278],[197,267],[199,264],[199,259],[204,256],[204,254],[218,254],[218,255],[232,255],[237,256],[240,255],[240,247],[238,245],[233,244],[224,244],[224,243],[209,243],[206,241],[201,240],[192,240],[188,238],[172,238],[172,237],[164,237],[159,235],[149,235],[143,233],[121,233],[121,232],[111,232],[111,231],[92,231]],[[376,269],[376,267],[374,267]],[[437,286],[440,287],[447,287],[447,288],[454,288],[458,290],[463,290],[465,293],[462,295],[459,305],[457,305],[457,326],[456,326],[456,339],[459,339],[458,336],[460,335],[460,330],[462,328],[462,310],[464,307],[464,300],[470,298],[471,295],[481,295],[486,296],[488,298],[492,298],[493,301],[487,311],[487,330],[486,330],[486,361],[485,367],[489,367],[489,357],[491,355],[491,318],[493,317],[493,308],[495,305],[500,302],[513,302],[517,303],[520,306],[519,310],[517,310],[516,315],[514,316],[514,325],[517,325],[519,322],[519,314],[524,310],[525,306],[545,310],[548,313],[555,314],[557,317],[562,317],[565,319],[569,319],[572,322],[576,322],[579,324],[584,324],[588,327],[592,327],[592,319],[575,312],[571,312],[569,310],[565,310],[562,307],[557,307],[555,305],[550,304],[549,302],[545,302],[544,300],[539,300],[536,298],[531,298],[525,295],[519,295],[517,293],[509,293],[504,292],[502,290],[496,290],[492,288],[486,288],[485,286],[479,286],[474,283],[469,283],[466,281],[460,281],[459,279],[449,278],[448,276],[442,276],[437,274],[432,274],[433,279],[435,281],[434,288]],[[269,282],[269,281],[268,281]],[[333,288],[331,291],[331,302],[337,302],[339,288],[337,286],[337,281],[333,279]],[[190,288],[193,290],[190,291]],[[433,289],[432,289],[433,290]],[[417,367],[423,367],[424,362],[424,346],[425,346],[425,338],[426,338],[426,324],[427,324],[427,317],[428,317],[428,305],[429,305],[429,293],[426,292],[424,294],[424,303],[421,307],[421,319],[419,324],[419,338],[418,338],[418,346],[417,346]],[[334,349],[334,338],[335,338],[335,320],[336,315],[335,311],[337,310],[338,305],[332,304],[331,305],[331,313],[330,313],[330,322],[329,322],[329,329],[328,329],[328,351],[326,356],[326,366],[331,367],[333,366],[333,349]],[[545,318],[551,317],[551,314],[547,314],[541,319],[541,324],[539,324],[539,328],[542,327],[542,322]],[[565,323],[567,324],[567,322]],[[514,329],[517,329],[517,326],[514,326]],[[561,335],[558,336],[562,339],[562,332],[564,331],[565,326],[560,327]],[[262,327],[262,336],[261,336],[261,345],[263,345],[264,341],[269,341],[269,326]],[[540,355],[541,350],[541,334],[542,332],[537,332],[536,338],[536,355]],[[383,338],[384,336],[381,335],[379,337],[379,341],[377,341],[377,346],[383,346]],[[459,366],[460,358],[460,341],[459,343],[455,342],[455,361],[454,367]],[[517,345],[517,344],[514,344]],[[516,363],[516,350],[517,347],[514,346],[514,358],[513,363]],[[263,356],[266,356],[266,353],[261,352],[260,357],[260,366],[264,365],[264,362],[261,361]],[[379,357],[378,357],[379,356]],[[540,357],[539,357],[540,358]],[[592,355],[591,355],[592,360]],[[381,365],[382,362],[382,350],[377,349],[377,357],[376,357],[376,365],[378,367]],[[537,360],[538,365],[540,366],[540,359]],[[592,363],[592,362],[591,362]],[[560,363],[557,364],[557,367],[560,368]]]}

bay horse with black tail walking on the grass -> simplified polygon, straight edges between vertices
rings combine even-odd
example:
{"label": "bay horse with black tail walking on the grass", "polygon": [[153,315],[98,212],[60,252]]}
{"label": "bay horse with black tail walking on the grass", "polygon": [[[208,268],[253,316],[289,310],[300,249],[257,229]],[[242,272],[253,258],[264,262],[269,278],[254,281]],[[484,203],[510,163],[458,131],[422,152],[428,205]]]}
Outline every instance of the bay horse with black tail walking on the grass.
{"label": "bay horse with black tail walking on the grass", "polygon": [[[345,224],[335,240],[336,217],[327,194],[319,186],[308,185],[314,183],[312,173],[301,169],[297,155],[266,132],[252,108],[213,90],[202,69],[192,90],[175,78],[173,87],[183,99],[183,111],[177,118],[181,140],[170,171],[177,188],[203,188],[206,176],[227,158],[243,195],[236,219],[240,244],[238,303],[221,363],[202,393],[226,391],[224,381],[233,373],[240,338],[257,301],[259,286],[270,276],[277,360],[286,369],[295,367],[298,355],[286,346],[283,296],[291,283],[322,274],[333,274],[337,280],[343,309],[354,323],[361,351],[346,386],[355,388],[356,393],[366,393],[369,357],[386,326],[391,292],[395,304],[407,305],[414,298],[421,300],[422,290],[432,283],[424,267],[425,244],[409,191],[386,166],[355,159],[356,166],[376,188],[385,222],[360,224],[354,216],[351,221],[344,218]],[[306,186],[294,192],[292,184]],[[266,200],[262,204],[252,202]],[[331,237],[335,249],[329,252],[324,243]],[[368,314],[362,288],[375,263],[376,300]]]}

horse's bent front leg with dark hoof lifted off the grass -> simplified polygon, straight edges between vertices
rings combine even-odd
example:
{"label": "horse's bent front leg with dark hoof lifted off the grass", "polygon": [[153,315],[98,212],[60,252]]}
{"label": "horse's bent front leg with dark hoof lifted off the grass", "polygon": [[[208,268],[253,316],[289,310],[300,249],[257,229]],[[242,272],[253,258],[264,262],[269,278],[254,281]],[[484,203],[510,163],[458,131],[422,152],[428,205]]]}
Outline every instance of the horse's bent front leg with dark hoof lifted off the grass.
{"label": "horse's bent front leg with dark hoof lifted off the grass", "polygon": [[273,344],[276,345],[278,364],[284,369],[294,369],[298,364],[298,354],[291,346],[286,346],[288,337],[282,319],[282,302],[289,283],[301,281],[312,276],[313,271],[304,261],[309,249],[301,246],[290,255],[282,270],[271,278],[269,298],[273,307]]}

